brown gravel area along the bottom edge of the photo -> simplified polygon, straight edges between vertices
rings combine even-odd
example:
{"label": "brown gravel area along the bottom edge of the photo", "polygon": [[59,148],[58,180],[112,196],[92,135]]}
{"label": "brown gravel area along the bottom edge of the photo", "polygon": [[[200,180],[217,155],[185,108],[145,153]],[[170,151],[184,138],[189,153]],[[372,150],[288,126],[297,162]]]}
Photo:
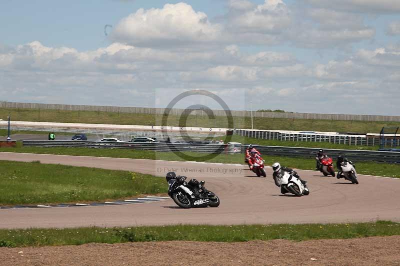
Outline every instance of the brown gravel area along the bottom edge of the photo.
{"label": "brown gravel area along the bottom edge of the photo", "polygon": [[0,248],[0,265],[400,265],[400,236]]}

